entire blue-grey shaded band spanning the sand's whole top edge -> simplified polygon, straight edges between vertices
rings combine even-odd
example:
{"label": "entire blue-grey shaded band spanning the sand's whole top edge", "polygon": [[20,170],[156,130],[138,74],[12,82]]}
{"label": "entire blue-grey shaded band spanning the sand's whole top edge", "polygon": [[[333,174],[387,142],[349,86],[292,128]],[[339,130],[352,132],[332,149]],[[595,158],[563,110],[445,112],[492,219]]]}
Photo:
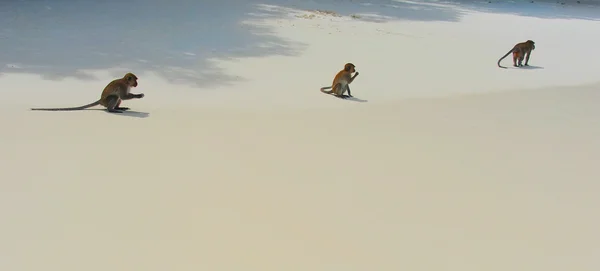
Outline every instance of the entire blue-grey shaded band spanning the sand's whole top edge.
{"label": "entire blue-grey shaded band spanning the sand's whole top edge", "polygon": [[[85,70],[155,73],[198,87],[244,80],[212,59],[297,56],[306,44],[249,24],[324,10],[355,20],[458,22],[464,9],[540,18],[597,19],[597,9],[552,3],[473,0],[22,0],[0,1],[0,76],[95,79]],[[583,2],[583,1],[582,1]],[[557,6],[558,5],[558,6]],[[568,6],[568,7],[567,7]],[[583,4],[582,4],[583,6]],[[336,16],[336,15],[333,15]],[[115,71],[115,78],[122,71]]]}

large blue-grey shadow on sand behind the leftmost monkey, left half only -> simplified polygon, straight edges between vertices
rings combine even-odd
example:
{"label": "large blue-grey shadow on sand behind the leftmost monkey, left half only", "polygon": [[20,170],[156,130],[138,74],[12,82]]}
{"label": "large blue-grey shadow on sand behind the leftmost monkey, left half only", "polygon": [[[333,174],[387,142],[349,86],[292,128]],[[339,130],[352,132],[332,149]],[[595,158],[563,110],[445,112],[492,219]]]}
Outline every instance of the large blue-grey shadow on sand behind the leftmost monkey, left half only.
{"label": "large blue-grey shadow on sand behind the leftmost monkey, left half only", "polygon": [[0,1],[0,74],[90,80],[82,70],[118,68],[176,84],[231,84],[243,79],[211,59],[294,56],[306,47],[243,23],[285,15],[256,2]]}

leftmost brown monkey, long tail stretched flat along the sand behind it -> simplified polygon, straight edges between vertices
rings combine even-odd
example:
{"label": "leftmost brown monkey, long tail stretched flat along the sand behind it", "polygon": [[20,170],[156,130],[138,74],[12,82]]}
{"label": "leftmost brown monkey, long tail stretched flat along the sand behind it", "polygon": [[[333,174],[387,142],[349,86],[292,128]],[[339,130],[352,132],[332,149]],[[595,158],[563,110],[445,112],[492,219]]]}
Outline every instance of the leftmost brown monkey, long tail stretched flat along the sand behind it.
{"label": "leftmost brown monkey, long tail stretched flat along the sand behind it", "polygon": [[132,94],[129,92],[131,87],[137,87],[137,76],[133,73],[127,73],[123,78],[115,79],[108,83],[108,85],[102,91],[100,99],[79,107],[69,108],[31,108],[31,110],[44,110],[44,111],[71,111],[71,110],[83,110],[92,106],[102,105],[106,107],[108,112],[111,113],[123,113],[125,110],[129,110],[128,107],[119,107],[122,100],[130,99],[141,99],[144,97],[143,93]]}

